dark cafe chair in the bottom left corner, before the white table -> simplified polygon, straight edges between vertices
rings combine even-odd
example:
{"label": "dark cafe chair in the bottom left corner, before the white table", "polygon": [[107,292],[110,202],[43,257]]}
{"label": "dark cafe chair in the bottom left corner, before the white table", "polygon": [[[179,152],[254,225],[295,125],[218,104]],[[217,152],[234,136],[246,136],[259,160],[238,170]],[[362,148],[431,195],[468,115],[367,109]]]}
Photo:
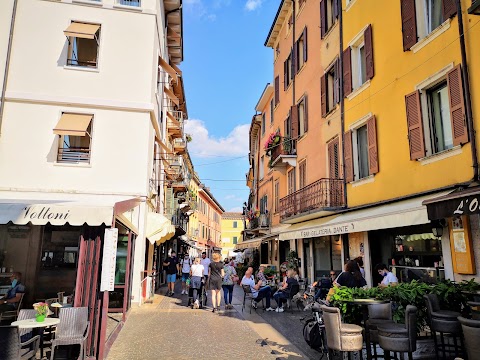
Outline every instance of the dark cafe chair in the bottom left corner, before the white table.
{"label": "dark cafe chair in the bottom left corner, before the white table", "polygon": [[25,342],[20,341],[17,326],[0,326],[0,359],[35,359],[40,344],[40,336],[34,336]]}

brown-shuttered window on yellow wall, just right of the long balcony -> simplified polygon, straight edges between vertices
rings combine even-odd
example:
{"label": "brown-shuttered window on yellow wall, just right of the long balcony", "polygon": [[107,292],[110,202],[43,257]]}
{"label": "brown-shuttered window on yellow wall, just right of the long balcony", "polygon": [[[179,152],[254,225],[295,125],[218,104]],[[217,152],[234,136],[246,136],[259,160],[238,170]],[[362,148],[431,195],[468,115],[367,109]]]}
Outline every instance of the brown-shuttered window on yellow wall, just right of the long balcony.
{"label": "brown-shuttered window on yellow wall, just right of the long balcony", "polygon": [[375,116],[369,117],[366,121],[361,122],[358,127],[346,132],[344,146],[345,179],[347,182],[360,180],[378,173]]}

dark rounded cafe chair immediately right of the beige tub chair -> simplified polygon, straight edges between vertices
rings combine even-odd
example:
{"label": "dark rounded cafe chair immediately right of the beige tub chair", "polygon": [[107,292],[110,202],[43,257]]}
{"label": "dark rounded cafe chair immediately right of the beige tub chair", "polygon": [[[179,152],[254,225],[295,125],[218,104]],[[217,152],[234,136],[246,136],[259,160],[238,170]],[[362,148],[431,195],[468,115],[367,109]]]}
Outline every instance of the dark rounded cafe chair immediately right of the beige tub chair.
{"label": "dark rounded cafe chair immediately right of the beige tub chair", "polygon": [[407,305],[405,324],[394,322],[377,326],[378,343],[383,349],[384,358],[390,360],[390,352],[408,353],[408,360],[413,360],[417,350],[417,308]]}

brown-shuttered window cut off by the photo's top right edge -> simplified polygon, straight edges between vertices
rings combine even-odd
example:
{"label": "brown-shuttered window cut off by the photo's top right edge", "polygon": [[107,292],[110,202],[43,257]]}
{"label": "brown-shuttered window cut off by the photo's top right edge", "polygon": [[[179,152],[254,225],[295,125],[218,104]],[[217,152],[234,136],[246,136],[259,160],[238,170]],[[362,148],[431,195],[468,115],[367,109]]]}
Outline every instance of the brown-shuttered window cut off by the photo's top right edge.
{"label": "brown-shuttered window cut off by the photo's top right edge", "polygon": [[457,13],[456,0],[402,0],[403,50],[428,36]]}

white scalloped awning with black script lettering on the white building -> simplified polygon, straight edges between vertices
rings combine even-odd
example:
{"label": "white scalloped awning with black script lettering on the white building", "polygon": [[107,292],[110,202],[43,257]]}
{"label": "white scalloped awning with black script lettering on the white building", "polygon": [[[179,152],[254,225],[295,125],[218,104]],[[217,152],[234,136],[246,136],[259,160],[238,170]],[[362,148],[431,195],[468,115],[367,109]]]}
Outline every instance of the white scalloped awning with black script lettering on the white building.
{"label": "white scalloped awning with black script lettering on the white building", "polygon": [[[18,194],[18,196],[17,196]],[[0,193],[0,224],[55,226],[83,224],[110,226],[116,204],[127,198],[99,195],[42,193],[38,198],[26,198],[31,193]],[[13,198],[15,197],[15,198]],[[25,198],[23,198],[25,197]]]}

